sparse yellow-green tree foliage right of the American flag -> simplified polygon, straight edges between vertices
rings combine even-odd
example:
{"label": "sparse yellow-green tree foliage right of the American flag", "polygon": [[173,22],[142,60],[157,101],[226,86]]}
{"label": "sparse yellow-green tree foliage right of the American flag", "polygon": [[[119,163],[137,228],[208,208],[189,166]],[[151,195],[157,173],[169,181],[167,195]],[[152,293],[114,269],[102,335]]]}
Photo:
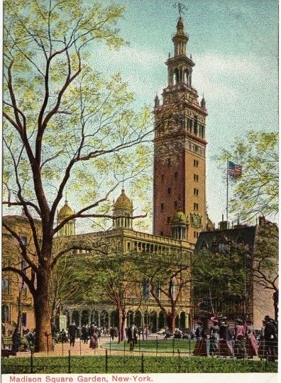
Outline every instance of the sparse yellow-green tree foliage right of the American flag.
{"label": "sparse yellow-green tree foliage right of the American flag", "polygon": [[278,211],[278,135],[275,132],[248,132],[238,139],[232,151],[223,150],[221,163],[234,161],[243,166],[242,176],[235,178],[231,212],[242,220],[256,215],[276,217]]}

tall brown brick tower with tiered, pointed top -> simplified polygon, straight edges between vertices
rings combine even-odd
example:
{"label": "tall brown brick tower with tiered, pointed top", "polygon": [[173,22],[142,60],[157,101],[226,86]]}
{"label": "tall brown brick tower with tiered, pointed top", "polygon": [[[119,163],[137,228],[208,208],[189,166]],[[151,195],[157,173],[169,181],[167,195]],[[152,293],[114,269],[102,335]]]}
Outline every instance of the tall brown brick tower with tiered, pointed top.
{"label": "tall brown brick tower with tiered, pointed top", "polygon": [[199,103],[192,87],[192,57],[182,18],[172,38],[174,57],[166,62],[168,85],[163,102],[155,97],[153,232],[172,236],[172,217],[179,210],[187,217],[187,236],[197,242],[206,226],[206,140],[207,116],[204,97]]}

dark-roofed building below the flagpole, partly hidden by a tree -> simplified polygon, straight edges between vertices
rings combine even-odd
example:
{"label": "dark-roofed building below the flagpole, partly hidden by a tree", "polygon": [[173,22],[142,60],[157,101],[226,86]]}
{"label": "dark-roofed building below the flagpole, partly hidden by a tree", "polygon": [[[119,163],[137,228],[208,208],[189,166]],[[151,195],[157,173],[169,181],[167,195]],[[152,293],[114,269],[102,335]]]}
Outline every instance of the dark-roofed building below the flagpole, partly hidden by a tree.
{"label": "dark-roofed building below the flagpole, partly hidden by a tree", "polygon": [[[227,229],[227,222],[221,222],[219,230],[209,232],[202,232],[194,249],[194,258],[200,257],[200,250],[208,250],[212,254],[217,255],[217,262],[219,265],[220,254],[229,254],[231,262],[231,249],[239,246],[244,249],[241,254],[245,258],[244,267],[246,273],[245,282],[245,297],[236,299],[235,301],[228,301],[224,297],[224,291],[219,293],[212,299],[212,306],[216,314],[226,315],[228,323],[234,327],[236,318],[243,320],[253,320],[255,329],[260,329],[265,315],[270,315],[271,318],[275,317],[272,293],[269,288],[264,288],[258,284],[253,277],[253,269],[255,269],[255,254],[258,252],[258,242],[260,230],[263,230],[265,220],[260,220],[259,225],[247,227],[245,225],[237,225],[232,229]],[[267,275],[267,271],[263,271]],[[272,279],[272,276],[269,279]],[[206,327],[211,326],[210,313],[211,303],[208,296],[202,296],[200,291],[197,290],[196,283],[192,286],[192,301],[194,303],[193,316],[202,318]],[[201,303],[202,304],[201,304]]]}

